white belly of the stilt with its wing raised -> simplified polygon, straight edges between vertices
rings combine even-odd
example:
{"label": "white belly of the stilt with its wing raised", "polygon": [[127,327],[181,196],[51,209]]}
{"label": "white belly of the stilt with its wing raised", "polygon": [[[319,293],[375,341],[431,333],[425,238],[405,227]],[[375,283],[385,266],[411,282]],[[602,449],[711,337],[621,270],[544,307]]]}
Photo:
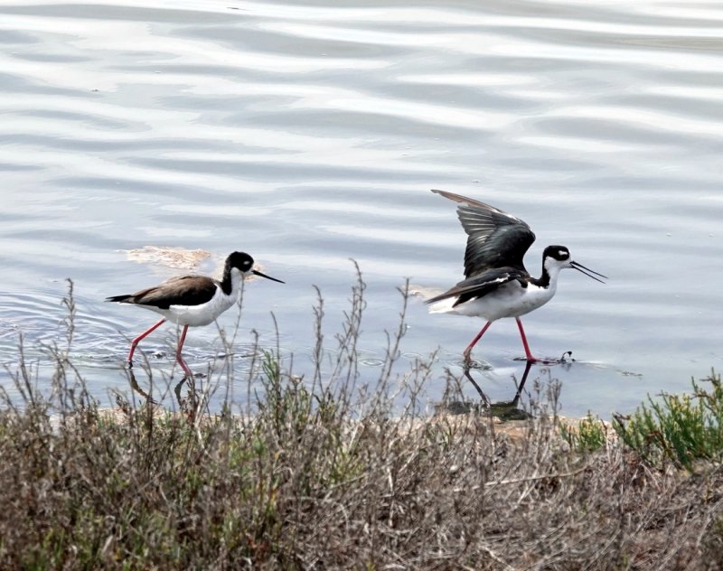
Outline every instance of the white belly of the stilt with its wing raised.
{"label": "white belly of the stilt with its wing raised", "polygon": [[520,317],[547,304],[555,295],[555,286],[538,287],[529,284],[522,287],[517,280],[509,282],[482,298],[472,299],[452,307],[456,299],[445,299],[429,308],[431,314],[457,314],[484,317],[487,321],[502,317]]}

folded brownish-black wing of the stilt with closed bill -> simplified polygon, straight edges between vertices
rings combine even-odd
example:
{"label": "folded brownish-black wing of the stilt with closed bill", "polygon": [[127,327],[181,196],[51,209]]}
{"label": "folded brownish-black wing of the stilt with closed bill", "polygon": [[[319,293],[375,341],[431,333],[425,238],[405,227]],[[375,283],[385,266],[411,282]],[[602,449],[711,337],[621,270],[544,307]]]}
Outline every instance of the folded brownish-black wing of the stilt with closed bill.
{"label": "folded brownish-black wing of the stilt with closed bill", "polygon": [[172,277],[160,286],[148,287],[131,295],[108,297],[107,302],[153,305],[168,309],[171,305],[201,305],[211,301],[216,293],[216,281],[208,276]]}

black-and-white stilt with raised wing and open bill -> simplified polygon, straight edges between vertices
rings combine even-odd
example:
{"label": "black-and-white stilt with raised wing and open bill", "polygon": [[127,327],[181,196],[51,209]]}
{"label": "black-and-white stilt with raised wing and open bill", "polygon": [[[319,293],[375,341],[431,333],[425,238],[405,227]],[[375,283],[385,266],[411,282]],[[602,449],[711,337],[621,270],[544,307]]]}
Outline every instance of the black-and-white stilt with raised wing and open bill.
{"label": "black-and-white stilt with raised wing and open bill", "polygon": [[601,283],[605,282],[596,276],[607,277],[572,261],[568,248],[564,246],[545,248],[542,275],[532,277],[522,258],[535,241],[535,235],[525,222],[484,202],[452,192],[432,192],[460,203],[457,214],[469,238],[465,251],[465,279],[444,294],[427,300],[427,304],[434,304],[430,313],[469,315],[487,320],[465,349],[465,362],[470,360],[474,344],[493,321],[514,317],[527,360],[537,361],[530,352],[520,316],[552,299],[561,269],[573,267]]}

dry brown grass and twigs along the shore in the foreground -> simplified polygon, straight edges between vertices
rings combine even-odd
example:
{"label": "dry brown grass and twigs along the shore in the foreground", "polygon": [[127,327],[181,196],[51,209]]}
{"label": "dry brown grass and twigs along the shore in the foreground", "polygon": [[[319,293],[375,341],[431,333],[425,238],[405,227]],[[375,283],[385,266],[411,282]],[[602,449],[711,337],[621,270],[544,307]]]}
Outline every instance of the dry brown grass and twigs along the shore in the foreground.
{"label": "dry brown grass and twigs along the shore in the foreground", "polygon": [[119,396],[120,417],[104,415],[67,359],[66,303],[53,379],[22,365],[22,402],[0,411],[0,568],[723,568],[719,464],[571,445],[554,383],[515,438],[484,415],[422,416],[428,364],[394,372],[403,310],[380,378],[358,386],[361,277],[334,357],[320,297],[316,369],[259,350],[239,416],[210,414],[211,383],[180,414]]}

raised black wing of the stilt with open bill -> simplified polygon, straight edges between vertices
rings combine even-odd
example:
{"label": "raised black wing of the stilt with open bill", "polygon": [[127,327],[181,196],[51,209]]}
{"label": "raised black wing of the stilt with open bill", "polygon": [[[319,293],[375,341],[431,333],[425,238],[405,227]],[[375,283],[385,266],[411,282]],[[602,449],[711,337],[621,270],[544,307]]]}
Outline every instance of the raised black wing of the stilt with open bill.
{"label": "raised black wing of the stilt with open bill", "polygon": [[489,204],[453,192],[432,192],[460,202],[457,215],[469,236],[465,250],[466,277],[499,267],[527,271],[522,258],[535,241],[535,234],[526,222]]}

